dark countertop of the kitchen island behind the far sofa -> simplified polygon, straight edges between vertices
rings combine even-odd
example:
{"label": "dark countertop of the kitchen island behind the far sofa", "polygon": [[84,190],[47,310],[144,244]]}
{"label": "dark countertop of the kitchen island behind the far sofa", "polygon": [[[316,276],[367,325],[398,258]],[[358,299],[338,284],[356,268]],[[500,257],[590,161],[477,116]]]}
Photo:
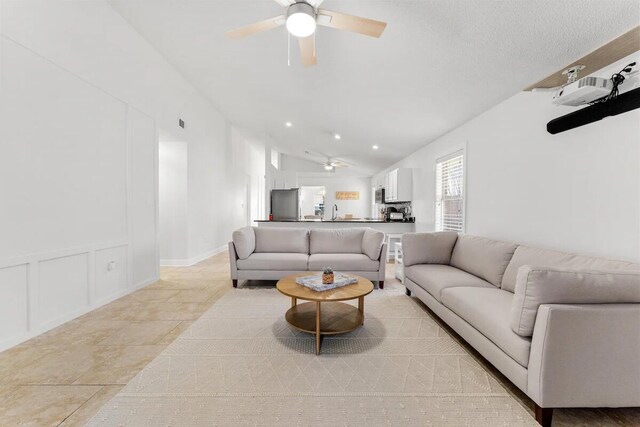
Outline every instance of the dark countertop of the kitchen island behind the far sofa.
{"label": "dark countertop of the kitchen island behind the far sofa", "polygon": [[369,227],[385,234],[413,233],[415,222],[385,221],[382,219],[291,219],[291,220],[256,220],[258,227],[287,227],[287,228],[362,228]]}

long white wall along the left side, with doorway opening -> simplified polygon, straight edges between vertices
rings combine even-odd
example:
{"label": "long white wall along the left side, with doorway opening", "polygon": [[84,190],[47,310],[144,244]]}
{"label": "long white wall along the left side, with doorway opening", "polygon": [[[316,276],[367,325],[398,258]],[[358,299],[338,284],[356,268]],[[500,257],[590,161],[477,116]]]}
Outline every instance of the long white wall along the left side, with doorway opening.
{"label": "long white wall along the left side, with doorway opening", "polygon": [[193,159],[187,261],[238,226],[252,167],[238,150],[260,140],[232,140],[106,2],[0,7],[0,301],[15,302],[0,305],[1,350],[158,278],[158,128]]}

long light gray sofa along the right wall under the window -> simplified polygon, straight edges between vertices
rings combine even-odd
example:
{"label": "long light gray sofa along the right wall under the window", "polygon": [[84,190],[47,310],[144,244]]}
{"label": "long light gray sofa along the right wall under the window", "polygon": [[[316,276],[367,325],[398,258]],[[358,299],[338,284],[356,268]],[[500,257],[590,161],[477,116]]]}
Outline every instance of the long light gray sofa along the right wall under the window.
{"label": "long light gray sofa along the right wall under the window", "polygon": [[405,234],[407,294],[536,404],[640,406],[640,265],[457,233]]}

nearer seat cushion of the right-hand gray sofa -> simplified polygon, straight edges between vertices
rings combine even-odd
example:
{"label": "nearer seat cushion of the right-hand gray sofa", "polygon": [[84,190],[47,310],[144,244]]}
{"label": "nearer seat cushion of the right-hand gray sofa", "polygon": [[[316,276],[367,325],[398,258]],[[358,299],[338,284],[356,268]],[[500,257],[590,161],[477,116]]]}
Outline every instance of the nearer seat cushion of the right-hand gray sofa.
{"label": "nearer seat cushion of the right-hand gray sofa", "polygon": [[442,304],[476,328],[525,368],[529,365],[531,339],[516,335],[509,327],[513,294],[496,288],[449,288]]}

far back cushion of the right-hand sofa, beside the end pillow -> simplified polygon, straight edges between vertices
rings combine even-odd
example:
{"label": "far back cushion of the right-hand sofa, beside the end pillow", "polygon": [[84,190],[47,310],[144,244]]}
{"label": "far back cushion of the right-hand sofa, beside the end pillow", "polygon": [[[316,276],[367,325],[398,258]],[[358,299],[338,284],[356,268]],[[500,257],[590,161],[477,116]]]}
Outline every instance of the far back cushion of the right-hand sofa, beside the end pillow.
{"label": "far back cushion of the right-hand sofa, beside the end pillow", "polygon": [[515,250],[513,243],[462,235],[453,247],[451,265],[499,287]]}

